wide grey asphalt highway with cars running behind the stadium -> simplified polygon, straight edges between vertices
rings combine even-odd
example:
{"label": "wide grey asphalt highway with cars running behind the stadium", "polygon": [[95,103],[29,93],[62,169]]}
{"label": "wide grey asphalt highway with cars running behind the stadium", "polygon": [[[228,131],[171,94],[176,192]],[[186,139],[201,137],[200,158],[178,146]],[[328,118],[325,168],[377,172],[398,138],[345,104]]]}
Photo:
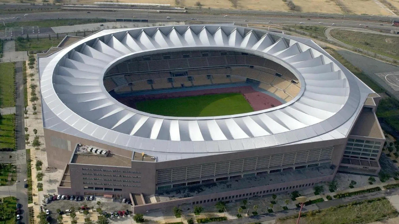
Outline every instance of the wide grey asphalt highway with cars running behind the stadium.
{"label": "wide grey asphalt highway with cars running behind the stadium", "polygon": [[[169,16],[171,19],[166,19]],[[30,21],[30,20],[40,20],[40,19],[126,19],[126,20],[149,20],[149,22],[155,21],[186,21],[194,18],[195,20],[203,22],[212,23],[260,23],[264,24],[268,21],[277,24],[299,24],[303,22],[304,25],[331,25],[332,23],[339,23],[340,27],[359,27],[359,24],[367,25],[370,28],[379,29],[392,29],[391,24],[387,23],[376,23],[375,21],[353,21],[353,20],[342,20],[342,19],[311,19],[306,18],[282,18],[282,17],[271,17],[271,16],[217,16],[217,15],[201,15],[201,14],[172,14],[172,13],[150,13],[150,12],[91,12],[87,11],[71,11],[71,12],[46,12],[46,13],[32,13],[29,16],[24,17],[24,14],[10,14],[1,15],[2,18],[11,18],[3,20],[5,23],[18,22],[18,21]],[[13,18],[21,19],[13,19]],[[136,18],[133,18],[136,17]],[[247,20],[247,21],[245,21]],[[322,24],[320,24],[321,22]],[[381,25],[382,24],[382,25]]]}

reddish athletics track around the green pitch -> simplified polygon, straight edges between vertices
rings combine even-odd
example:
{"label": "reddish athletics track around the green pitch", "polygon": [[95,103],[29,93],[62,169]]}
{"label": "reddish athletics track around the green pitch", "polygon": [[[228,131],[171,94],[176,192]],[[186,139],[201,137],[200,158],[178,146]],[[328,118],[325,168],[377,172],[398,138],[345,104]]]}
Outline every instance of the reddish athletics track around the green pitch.
{"label": "reddish athletics track around the green pitch", "polygon": [[129,97],[120,97],[117,100],[129,107],[135,108],[136,102],[151,100],[151,99],[167,99],[176,97],[188,97],[196,95],[209,95],[209,94],[220,94],[220,93],[241,93],[247,99],[248,103],[254,109],[254,111],[260,111],[276,107],[282,103],[265,93],[257,92],[251,86],[239,86],[239,87],[228,87],[228,88],[215,88],[209,90],[190,90],[184,92],[170,92],[170,93],[157,93],[157,94],[146,94]]}

